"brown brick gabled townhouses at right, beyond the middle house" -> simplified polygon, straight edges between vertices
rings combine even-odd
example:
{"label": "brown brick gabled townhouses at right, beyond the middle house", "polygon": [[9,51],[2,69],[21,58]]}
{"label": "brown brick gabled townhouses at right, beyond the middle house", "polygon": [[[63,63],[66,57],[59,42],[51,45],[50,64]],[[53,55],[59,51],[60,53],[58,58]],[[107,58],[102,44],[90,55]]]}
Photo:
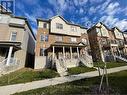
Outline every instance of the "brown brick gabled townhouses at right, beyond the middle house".
{"label": "brown brick gabled townhouses at right, beyond the middle house", "polygon": [[126,55],[123,32],[117,27],[109,29],[100,22],[88,29],[88,35],[93,61],[114,61]]}

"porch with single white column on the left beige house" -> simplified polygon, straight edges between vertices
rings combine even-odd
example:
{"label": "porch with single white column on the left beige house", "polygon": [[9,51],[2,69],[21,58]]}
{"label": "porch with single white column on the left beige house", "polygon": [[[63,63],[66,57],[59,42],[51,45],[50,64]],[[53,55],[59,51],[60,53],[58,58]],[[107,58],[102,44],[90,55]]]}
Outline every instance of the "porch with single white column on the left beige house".
{"label": "porch with single white column on the left beige house", "polygon": [[6,41],[0,41],[0,63],[6,64],[9,66],[12,63],[15,63],[17,61],[16,58],[14,58],[14,54],[16,51],[20,50],[20,42],[6,42]]}

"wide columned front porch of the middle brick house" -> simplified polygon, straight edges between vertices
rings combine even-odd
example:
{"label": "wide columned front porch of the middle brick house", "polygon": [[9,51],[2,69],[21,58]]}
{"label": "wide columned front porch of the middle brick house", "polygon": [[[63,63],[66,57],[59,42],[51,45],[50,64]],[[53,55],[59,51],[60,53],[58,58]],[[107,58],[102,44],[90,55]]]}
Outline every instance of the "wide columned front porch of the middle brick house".
{"label": "wide columned front porch of the middle brick house", "polygon": [[[47,54],[48,64],[51,65],[53,60],[59,60],[59,63],[64,64],[66,68],[79,66],[81,57],[84,59],[88,56],[91,57],[88,54],[87,46],[82,43],[54,43],[45,50],[45,53]],[[89,62],[92,62],[91,60],[92,57],[89,59]],[[54,67],[54,64],[52,64],[52,67]]]}

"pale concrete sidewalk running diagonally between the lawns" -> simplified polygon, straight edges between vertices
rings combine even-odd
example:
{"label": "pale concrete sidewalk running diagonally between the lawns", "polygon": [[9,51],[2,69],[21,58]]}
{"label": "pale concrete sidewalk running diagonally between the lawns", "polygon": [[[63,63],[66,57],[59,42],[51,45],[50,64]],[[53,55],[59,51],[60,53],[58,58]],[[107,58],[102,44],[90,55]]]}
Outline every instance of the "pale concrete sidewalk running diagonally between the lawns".
{"label": "pale concrete sidewalk running diagonally between the lawns", "polygon": [[[108,69],[107,72],[114,73],[114,72],[119,72],[123,70],[127,70],[127,66],[111,68],[111,69]],[[78,74],[78,75],[57,77],[52,79],[45,79],[45,80],[33,81],[33,82],[21,83],[21,84],[15,84],[15,85],[0,86],[0,95],[10,95],[16,92],[23,92],[27,90],[47,87],[50,85],[62,84],[65,82],[72,82],[75,80],[91,78],[95,76],[98,76],[98,71],[92,71],[92,72],[87,72],[87,73]]]}

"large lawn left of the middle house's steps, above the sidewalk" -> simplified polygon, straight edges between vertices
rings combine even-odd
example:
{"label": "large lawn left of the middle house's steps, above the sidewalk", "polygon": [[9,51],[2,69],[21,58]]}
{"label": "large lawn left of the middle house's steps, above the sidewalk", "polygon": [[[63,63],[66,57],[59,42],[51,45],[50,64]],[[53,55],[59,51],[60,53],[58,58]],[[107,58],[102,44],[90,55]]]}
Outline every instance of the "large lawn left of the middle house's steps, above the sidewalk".
{"label": "large lawn left of the middle house's steps, above the sidewalk", "polygon": [[33,69],[24,68],[0,77],[0,86],[26,83],[58,76],[59,74],[56,71],[50,69],[34,71]]}

